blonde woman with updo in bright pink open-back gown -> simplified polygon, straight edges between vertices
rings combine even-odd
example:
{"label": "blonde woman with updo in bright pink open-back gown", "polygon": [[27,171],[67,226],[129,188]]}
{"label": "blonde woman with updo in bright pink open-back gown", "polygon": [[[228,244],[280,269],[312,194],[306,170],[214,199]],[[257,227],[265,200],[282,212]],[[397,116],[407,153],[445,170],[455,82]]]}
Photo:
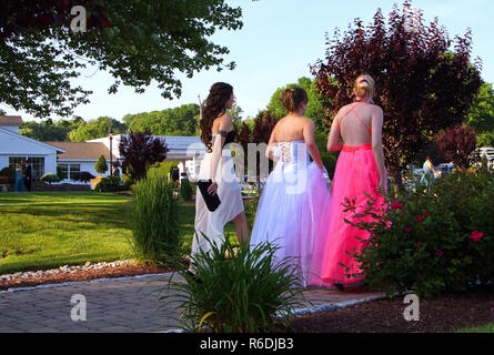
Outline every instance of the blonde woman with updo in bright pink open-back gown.
{"label": "blonde woman with updo in bright pink open-back gown", "polygon": [[[367,207],[369,197],[376,199],[377,205],[384,203],[382,192],[386,190],[386,170],[382,149],[383,111],[372,103],[374,80],[361,75],[353,90],[356,101],[340,109],[333,120],[327,140],[329,151],[340,151],[334,173],[327,231],[320,234],[314,243],[314,260],[311,267],[312,285],[343,290],[344,286],[360,285],[364,276],[347,277],[346,274],[361,272],[360,265],[347,252],[360,252],[362,243],[357,239],[369,239],[369,232],[361,231],[344,219],[353,219]],[[343,142],[339,142],[339,138]],[[355,201],[354,212],[344,212],[345,197]],[[364,222],[372,222],[366,217]],[[345,267],[341,264],[346,265]],[[346,272],[350,267],[350,272]]]}

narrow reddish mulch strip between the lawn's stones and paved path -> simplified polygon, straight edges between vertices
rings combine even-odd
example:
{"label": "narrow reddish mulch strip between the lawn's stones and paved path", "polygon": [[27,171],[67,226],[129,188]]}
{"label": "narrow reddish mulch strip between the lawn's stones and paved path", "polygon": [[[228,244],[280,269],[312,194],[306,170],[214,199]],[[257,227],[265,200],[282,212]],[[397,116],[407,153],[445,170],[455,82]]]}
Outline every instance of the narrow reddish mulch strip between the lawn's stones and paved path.
{"label": "narrow reddish mulch strip between the lawn's stones and paved path", "polygon": [[0,291],[6,291],[11,287],[31,287],[46,284],[90,281],[95,278],[118,278],[147,274],[162,274],[171,271],[172,270],[170,267],[152,264],[121,265],[101,270],[75,271],[73,273],[2,281],[0,282]]}

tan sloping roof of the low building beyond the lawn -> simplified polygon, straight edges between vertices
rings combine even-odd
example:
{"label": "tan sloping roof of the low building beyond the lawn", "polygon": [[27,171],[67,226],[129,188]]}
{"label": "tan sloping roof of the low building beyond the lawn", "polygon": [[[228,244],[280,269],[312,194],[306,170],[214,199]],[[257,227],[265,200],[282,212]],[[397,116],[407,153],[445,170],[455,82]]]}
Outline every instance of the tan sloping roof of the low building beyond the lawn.
{"label": "tan sloping roof of the low building beyond the lawn", "polygon": [[[59,159],[63,160],[94,160],[97,161],[101,155],[110,160],[110,151],[103,143],[99,142],[43,142],[53,146],[63,149],[65,152],[59,154]],[[117,156],[112,154],[112,159]]]}

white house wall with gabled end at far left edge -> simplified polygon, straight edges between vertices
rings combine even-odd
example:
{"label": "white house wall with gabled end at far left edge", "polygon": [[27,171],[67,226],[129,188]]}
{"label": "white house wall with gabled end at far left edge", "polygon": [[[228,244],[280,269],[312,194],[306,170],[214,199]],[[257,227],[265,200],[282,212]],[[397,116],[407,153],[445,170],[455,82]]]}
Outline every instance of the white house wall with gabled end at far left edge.
{"label": "white house wall with gabled end at far left edge", "polygon": [[33,179],[57,173],[57,154],[64,150],[19,134],[22,123],[20,116],[0,115],[0,170],[29,160]]}

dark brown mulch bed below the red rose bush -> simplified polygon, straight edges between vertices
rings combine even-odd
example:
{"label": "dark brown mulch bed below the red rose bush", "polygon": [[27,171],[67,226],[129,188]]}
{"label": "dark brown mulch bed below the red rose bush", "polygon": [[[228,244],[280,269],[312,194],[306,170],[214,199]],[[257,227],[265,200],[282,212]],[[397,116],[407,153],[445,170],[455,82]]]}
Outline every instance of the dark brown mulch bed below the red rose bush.
{"label": "dark brown mulch bed below the red rose bush", "polygon": [[452,333],[494,323],[494,293],[476,290],[420,298],[419,322],[404,318],[404,297],[386,298],[325,313],[298,316],[281,333]]}

